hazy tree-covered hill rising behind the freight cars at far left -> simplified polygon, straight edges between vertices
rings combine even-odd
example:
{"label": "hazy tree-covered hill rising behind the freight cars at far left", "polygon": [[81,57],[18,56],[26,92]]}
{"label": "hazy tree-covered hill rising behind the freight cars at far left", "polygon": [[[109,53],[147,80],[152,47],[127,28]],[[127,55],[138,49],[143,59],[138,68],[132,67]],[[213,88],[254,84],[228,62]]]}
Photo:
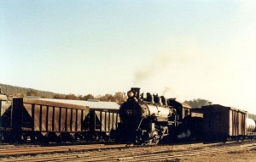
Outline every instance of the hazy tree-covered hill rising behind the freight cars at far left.
{"label": "hazy tree-covered hill rising behind the freight cars at far left", "polygon": [[4,92],[8,96],[17,96],[17,97],[25,97],[25,96],[38,96],[41,98],[54,98],[55,95],[58,95],[55,92],[47,92],[47,91],[39,91],[32,88],[26,87],[15,87],[6,84],[1,84],[2,92]]}

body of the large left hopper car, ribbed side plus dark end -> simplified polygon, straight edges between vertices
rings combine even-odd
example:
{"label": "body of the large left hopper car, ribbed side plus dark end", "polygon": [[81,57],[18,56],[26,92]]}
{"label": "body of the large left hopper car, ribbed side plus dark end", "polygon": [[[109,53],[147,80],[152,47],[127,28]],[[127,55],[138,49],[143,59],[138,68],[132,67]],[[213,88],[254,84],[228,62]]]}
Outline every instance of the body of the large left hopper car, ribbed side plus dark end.
{"label": "body of the large left hopper car, ribbed side plus dark end", "polygon": [[[48,132],[79,133],[89,108],[68,103],[54,103],[28,98],[13,98],[12,120],[14,141],[22,136],[43,136]],[[80,115],[80,116],[79,116]],[[79,130],[79,131],[78,131]],[[22,134],[21,134],[22,133]]]}

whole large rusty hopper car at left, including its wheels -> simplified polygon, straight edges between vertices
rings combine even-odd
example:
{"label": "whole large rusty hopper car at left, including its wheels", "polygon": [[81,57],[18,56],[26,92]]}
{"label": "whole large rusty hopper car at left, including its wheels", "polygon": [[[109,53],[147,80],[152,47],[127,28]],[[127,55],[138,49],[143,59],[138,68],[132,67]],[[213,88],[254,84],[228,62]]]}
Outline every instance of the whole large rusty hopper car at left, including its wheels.
{"label": "whole large rusty hopper car at left, including its wheels", "polygon": [[89,108],[68,103],[55,103],[30,98],[13,98],[13,104],[3,114],[4,140],[21,142],[67,140],[82,136]]}

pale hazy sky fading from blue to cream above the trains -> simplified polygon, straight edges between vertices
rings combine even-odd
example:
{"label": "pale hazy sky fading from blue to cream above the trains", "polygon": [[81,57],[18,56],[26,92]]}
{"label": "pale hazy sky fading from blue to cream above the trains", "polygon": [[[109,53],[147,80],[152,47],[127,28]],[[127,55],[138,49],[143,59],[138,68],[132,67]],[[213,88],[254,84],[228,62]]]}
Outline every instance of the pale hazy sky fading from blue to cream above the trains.
{"label": "pale hazy sky fading from blue to cream above the trains", "polygon": [[82,95],[141,87],[256,114],[255,8],[253,0],[0,0],[0,82]]}

